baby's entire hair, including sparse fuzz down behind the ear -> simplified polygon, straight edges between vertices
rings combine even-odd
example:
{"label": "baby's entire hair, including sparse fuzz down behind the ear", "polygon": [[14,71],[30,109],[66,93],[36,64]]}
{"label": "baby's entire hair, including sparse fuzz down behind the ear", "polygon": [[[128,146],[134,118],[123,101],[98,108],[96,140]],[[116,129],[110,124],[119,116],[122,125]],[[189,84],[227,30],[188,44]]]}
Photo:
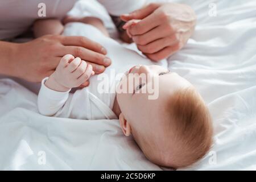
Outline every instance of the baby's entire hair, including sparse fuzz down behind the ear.
{"label": "baby's entire hair, including sparse fuzz down behind the ear", "polygon": [[[177,90],[163,105],[167,113],[162,132],[134,136],[144,154],[164,167],[188,167],[212,145],[212,121],[207,106],[194,88]],[[138,139],[139,137],[139,139]]]}

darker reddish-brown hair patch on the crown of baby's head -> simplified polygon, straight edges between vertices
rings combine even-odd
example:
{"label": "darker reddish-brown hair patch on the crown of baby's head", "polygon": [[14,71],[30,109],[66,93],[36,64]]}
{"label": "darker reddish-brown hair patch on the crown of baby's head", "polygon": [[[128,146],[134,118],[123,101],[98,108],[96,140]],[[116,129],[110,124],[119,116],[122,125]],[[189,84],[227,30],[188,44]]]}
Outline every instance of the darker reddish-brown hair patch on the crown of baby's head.
{"label": "darker reddish-brown hair patch on the crown of baby's head", "polygon": [[213,127],[208,107],[194,88],[179,90],[170,99],[170,117],[177,143],[172,163],[187,167],[203,158],[212,145]]}

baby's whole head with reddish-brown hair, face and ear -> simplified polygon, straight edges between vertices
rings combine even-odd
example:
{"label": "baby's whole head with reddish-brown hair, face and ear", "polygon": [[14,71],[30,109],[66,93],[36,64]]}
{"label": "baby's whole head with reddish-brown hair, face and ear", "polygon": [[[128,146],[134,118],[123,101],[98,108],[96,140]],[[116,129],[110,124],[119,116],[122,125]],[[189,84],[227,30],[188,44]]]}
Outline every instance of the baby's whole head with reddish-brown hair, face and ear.
{"label": "baby's whole head with reddish-brown hair, face and ear", "polygon": [[[157,65],[136,66],[129,73],[133,79],[141,74],[147,78],[129,85],[128,77],[119,84],[134,90],[117,93],[123,133],[132,134],[146,157],[160,166],[187,167],[203,158],[212,144],[212,123],[196,89],[183,77]],[[154,87],[152,80],[156,78],[158,86]],[[148,99],[149,87],[159,89],[157,99]]]}

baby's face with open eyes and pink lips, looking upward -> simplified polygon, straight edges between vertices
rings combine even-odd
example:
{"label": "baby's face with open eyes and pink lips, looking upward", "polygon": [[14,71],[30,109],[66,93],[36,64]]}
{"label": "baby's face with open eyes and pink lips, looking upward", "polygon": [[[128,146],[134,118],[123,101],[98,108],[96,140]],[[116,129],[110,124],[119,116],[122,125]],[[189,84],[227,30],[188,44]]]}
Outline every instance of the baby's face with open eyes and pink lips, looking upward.
{"label": "baby's face with open eyes and pink lips, looking upward", "polygon": [[[176,90],[192,85],[177,73],[170,72],[158,65],[138,65],[131,68],[127,75],[121,80],[118,87],[123,88],[126,85],[129,88],[127,90],[131,90],[131,92],[117,93],[117,101],[123,116],[131,125],[132,133],[133,128],[140,128],[142,132],[147,129],[154,129],[152,132],[158,130],[161,132],[162,129],[158,127],[158,121],[167,118],[168,112],[163,109],[167,98],[170,98]],[[140,77],[142,75],[146,75],[146,77]],[[139,81],[132,81],[136,79]],[[158,97],[149,99],[148,96],[152,94],[152,90],[148,88],[154,88],[155,92],[158,92]]]}

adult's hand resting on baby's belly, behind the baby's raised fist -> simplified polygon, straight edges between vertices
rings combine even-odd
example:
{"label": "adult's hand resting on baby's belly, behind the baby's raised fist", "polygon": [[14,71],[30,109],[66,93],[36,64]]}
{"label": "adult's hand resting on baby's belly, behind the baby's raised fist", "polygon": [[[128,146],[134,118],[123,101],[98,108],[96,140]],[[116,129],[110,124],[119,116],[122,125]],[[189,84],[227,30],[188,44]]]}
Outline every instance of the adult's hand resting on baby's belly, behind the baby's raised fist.
{"label": "adult's hand resting on baby's belly, behind the baby's raised fist", "polygon": [[[93,67],[95,73],[102,73],[111,64],[106,49],[100,44],[82,36],[46,35],[31,42],[16,44],[13,59],[13,76],[31,82],[40,82],[51,75],[61,57],[72,54]],[[88,85],[85,84],[84,86]]]}

